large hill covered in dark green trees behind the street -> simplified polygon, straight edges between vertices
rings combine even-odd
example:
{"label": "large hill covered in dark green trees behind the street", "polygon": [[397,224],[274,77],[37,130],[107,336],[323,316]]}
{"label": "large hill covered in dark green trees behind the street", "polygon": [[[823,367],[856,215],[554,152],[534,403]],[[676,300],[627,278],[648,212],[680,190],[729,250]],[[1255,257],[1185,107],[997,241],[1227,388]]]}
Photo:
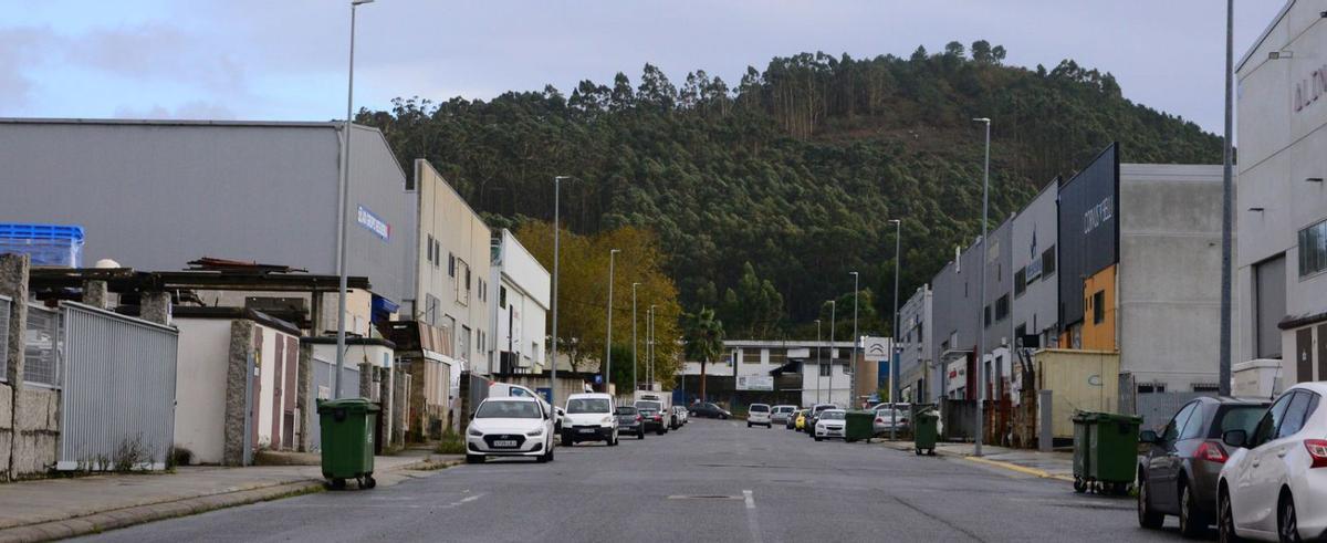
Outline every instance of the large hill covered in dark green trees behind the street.
{"label": "large hill covered in dark green trees behind the street", "polygon": [[823,300],[852,291],[853,270],[876,293],[863,328],[884,332],[888,219],[904,220],[902,299],[981,230],[973,117],[993,119],[993,227],[1112,141],[1128,162],[1221,161],[1217,135],[1123,98],[1109,73],[1003,58],[985,41],[906,58],[802,53],[731,84],[705,72],[673,81],[646,64],[634,81],[397,100],[358,121],[402,162],[433,162],[494,227],[552,219],[552,178],[573,175],[569,227],[657,231],[685,305],[717,307],[730,337],[804,333]]}

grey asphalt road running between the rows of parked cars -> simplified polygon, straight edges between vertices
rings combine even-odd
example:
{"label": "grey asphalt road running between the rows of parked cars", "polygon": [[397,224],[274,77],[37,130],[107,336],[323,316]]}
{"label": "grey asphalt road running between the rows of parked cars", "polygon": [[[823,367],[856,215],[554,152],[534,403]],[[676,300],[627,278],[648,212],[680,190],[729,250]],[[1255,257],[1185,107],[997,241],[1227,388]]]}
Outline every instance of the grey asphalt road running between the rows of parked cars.
{"label": "grey asphalt road running between the rows of parked cars", "polygon": [[[1170,524],[1173,526],[1173,520]],[[549,465],[490,461],[370,491],[320,493],[101,534],[98,542],[1117,542],[1132,499],[1076,495],[958,458],[693,420]]]}

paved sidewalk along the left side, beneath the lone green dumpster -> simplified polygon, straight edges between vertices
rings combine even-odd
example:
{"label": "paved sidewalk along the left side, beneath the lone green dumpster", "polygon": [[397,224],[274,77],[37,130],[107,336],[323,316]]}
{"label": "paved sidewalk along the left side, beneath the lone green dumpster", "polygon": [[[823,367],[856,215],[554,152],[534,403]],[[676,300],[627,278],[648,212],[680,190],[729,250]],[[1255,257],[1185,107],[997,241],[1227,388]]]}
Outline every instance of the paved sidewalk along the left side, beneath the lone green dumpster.
{"label": "paved sidewalk along the left side, beneath the lone green dumpster", "polygon": [[[409,450],[374,458],[374,478],[387,486],[460,461],[460,455]],[[349,489],[356,491],[354,482]],[[198,466],[173,474],[5,483],[0,485],[0,543],[70,538],[320,490],[318,466]]]}

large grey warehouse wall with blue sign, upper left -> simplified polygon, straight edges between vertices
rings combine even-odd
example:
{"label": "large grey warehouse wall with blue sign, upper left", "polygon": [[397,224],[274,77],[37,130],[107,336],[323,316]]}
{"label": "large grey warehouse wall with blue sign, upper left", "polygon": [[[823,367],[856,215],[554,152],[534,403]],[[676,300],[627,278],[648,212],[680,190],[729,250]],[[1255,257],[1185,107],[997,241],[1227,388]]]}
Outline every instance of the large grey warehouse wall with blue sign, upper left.
{"label": "large grey warehouse wall with blue sign, upper left", "polygon": [[[180,270],[199,256],[336,272],[340,123],[0,119],[0,216],[86,228],[84,262]],[[377,129],[357,127],[348,268],[409,291],[414,206]],[[391,226],[358,226],[357,206]]]}

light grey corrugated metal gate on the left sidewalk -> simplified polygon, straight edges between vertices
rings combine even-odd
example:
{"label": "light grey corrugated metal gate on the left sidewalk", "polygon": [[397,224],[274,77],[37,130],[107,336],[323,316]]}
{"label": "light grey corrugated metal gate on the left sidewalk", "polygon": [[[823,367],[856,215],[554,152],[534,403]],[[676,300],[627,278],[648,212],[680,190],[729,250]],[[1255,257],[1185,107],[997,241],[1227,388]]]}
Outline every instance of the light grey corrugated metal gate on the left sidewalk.
{"label": "light grey corrugated metal gate on the left sidewalk", "polygon": [[[64,303],[56,469],[165,469],[174,442],[174,328]],[[110,463],[106,466],[106,463]]]}

